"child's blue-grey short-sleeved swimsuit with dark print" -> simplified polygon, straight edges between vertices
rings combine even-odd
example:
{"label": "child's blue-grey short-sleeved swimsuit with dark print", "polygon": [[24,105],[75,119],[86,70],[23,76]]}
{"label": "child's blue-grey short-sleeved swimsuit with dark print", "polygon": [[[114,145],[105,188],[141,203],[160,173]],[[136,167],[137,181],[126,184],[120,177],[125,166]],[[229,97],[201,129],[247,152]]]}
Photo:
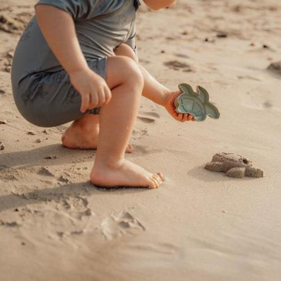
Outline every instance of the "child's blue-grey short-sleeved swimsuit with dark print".
{"label": "child's blue-grey short-sleeved swimsuit with dark print", "polygon": [[[40,0],[38,4],[52,5],[71,14],[90,69],[104,79],[106,58],[114,56],[115,48],[126,43],[136,52],[136,0]],[[40,127],[62,125],[100,110],[80,111],[81,96],[44,40],[36,17],[18,42],[12,87],[19,112]]]}

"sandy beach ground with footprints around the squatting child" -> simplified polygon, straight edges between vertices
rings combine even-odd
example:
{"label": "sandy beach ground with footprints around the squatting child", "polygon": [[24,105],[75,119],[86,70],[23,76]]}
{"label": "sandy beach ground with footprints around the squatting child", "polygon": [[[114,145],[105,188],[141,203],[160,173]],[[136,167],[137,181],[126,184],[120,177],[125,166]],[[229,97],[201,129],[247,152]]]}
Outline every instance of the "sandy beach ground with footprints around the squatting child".
{"label": "sandy beach ground with footprints around the squatting child", "polygon": [[[279,0],[189,0],[138,14],[140,62],[171,88],[208,89],[221,118],[181,124],[143,99],[127,155],[167,180],[104,191],[95,151],[60,144],[67,125],[18,113],[9,64],[32,0],[0,2],[0,272],[21,280],[280,280]],[[227,37],[218,38],[218,33]],[[217,152],[250,158],[261,179],[206,171]]]}

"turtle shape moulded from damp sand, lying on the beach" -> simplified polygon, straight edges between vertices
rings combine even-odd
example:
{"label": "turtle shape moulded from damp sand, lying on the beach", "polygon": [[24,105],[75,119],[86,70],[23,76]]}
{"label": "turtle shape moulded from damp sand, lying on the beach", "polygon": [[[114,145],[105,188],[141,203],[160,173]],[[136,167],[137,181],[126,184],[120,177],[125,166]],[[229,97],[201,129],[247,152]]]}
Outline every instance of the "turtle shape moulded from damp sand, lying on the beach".
{"label": "turtle shape moulded from damp sand, lying on the beach", "polygon": [[251,160],[233,153],[215,154],[212,162],[206,163],[205,169],[212,172],[225,172],[226,176],[233,178],[264,176],[262,170],[252,166]]}

